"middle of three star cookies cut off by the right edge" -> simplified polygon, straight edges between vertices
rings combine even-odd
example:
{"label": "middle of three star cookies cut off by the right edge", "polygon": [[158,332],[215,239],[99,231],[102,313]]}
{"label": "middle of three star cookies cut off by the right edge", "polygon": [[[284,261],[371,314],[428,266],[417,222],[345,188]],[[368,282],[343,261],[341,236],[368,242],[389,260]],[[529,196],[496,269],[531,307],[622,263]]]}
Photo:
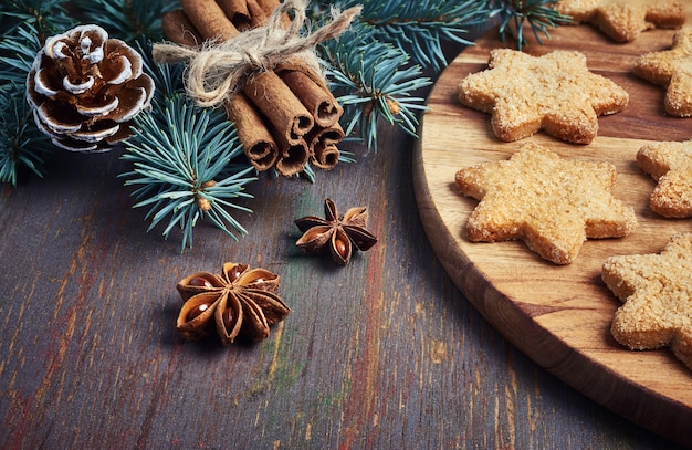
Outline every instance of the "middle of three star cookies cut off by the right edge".
{"label": "middle of three star cookies cut off by the right edge", "polygon": [[637,153],[637,164],[658,181],[649,201],[652,211],[692,217],[692,140],[646,145]]}

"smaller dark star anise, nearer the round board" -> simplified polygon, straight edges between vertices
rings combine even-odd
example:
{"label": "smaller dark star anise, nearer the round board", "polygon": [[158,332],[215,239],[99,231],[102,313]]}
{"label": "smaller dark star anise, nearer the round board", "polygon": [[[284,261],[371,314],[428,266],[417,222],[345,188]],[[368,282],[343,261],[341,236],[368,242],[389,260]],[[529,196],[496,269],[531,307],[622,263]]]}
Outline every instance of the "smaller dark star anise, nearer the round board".
{"label": "smaller dark star anise, nearer the round board", "polygon": [[377,238],[365,229],[368,221],[367,208],[350,208],[339,218],[334,201],[326,199],[324,214],[325,219],[306,216],[295,220],[295,224],[303,232],[295,244],[307,253],[322,253],[328,249],[334,262],[346,265],[354,247],[366,251],[377,243]]}

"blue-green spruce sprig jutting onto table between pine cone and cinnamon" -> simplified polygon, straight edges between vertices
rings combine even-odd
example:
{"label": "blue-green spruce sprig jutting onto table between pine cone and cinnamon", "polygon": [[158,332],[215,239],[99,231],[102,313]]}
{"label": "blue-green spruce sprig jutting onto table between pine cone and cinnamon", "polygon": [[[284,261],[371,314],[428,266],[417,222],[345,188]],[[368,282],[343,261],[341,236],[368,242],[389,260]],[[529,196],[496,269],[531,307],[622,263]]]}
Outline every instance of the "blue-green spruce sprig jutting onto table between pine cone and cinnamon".
{"label": "blue-green spruce sprig jutting onto table between pine cone and cinnamon", "polygon": [[[231,199],[251,197],[244,187],[256,180],[250,165],[232,166],[243,155],[235,130],[219,111],[201,109],[182,95],[165,100],[155,108],[161,114],[135,117],[134,135],[125,143],[123,159],[133,170],[123,174],[126,186],[148,207],[147,231],[159,223],[168,238],[177,226],[182,230],[181,250],[192,247],[192,229],[208,218],[233,239],[245,229],[228,209],[252,212]],[[235,231],[235,233],[233,232]]]}

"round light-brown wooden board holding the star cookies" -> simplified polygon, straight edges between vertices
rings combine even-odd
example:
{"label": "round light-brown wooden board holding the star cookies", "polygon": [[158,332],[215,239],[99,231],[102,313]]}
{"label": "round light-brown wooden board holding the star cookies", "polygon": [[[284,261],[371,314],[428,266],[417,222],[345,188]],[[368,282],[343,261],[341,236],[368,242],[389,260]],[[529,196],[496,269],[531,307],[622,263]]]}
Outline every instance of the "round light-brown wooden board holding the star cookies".
{"label": "round light-brown wooden board holding the star cookies", "polygon": [[[616,44],[589,25],[551,31],[539,55],[578,50],[589,69],[630,94],[627,108],[599,118],[598,137],[587,146],[538,133],[518,143],[502,143],[490,115],[462,106],[457,85],[466,74],[486,69],[489,51],[502,43],[495,31],[464,50],[442,73],[423,116],[413,163],[419,211],[426,232],[449,275],[493,326],[537,364],[617,414],[678,442],[692,444],[692,370],[670,350],[632,352],[610,334],[620,302],[600,280],[604,261],[615,254],[657,253],[673,232],[692,221],[669,220],[649,209],[654,181],[637,167],[639,148],[657,140],[692,137],[692,118],[663,113],[664,90],[631,74],[637,56],[670,46],[672,30],[652,30],[635,42]],[[623,239],[589,240],[576,261],[554,265],[523,242],[473,243],[466,220],[478,203],[461,196],[454,174],[476,163],[507,159],[533,140],[563,157],[607,160],[617,167],[614,193],[638,214],[637,230]]]}

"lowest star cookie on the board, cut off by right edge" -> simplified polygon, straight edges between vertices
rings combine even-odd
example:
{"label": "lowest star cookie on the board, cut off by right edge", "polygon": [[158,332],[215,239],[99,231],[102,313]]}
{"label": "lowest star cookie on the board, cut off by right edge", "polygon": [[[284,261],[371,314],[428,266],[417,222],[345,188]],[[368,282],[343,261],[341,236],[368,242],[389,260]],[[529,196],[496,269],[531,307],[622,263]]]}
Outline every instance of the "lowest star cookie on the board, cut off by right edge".
{"label": "lowest star cookie on the board, cut off by right edge", "polygon": [[692,233],[671,238],[659,254],[606,260],[601,278],[623,304],[612,336],[631,349],[670,346],[692,369]]}

